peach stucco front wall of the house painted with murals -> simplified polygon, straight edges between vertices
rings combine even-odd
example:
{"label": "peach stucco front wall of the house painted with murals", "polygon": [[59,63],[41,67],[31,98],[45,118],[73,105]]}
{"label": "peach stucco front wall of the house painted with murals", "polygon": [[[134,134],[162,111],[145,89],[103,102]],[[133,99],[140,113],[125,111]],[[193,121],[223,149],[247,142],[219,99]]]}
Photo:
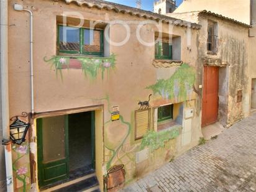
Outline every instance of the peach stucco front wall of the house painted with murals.
{"label": "peach stucco front wall of the house painted with murals", "polygon": [[[202,137],[199,89],[201,74],[196,73],[201,70],[201,61],[198,59],[201,53],[197,43],[199,25],[192,24],[198,29],[191,29],[184,25],[170,24],[173,29],[173,57],[180,59],[163,62],[155,60],[154,45],[142,45],[136,37],[138,22],[146,20],[143,17],[100,9],[97,6],[78,6],[79,3],[75,2],[66,4],[64,1],[11,0],[11,117],[20,115],[22,111],[30,112],[29,15],[14,11],[14,3],[23,4],[34,14],[35,113],[31,114],[29,119],[31,127],[27,141],[21,146],[12,147],[14,188],[17,191],[24,188],[25,191],[29,191],[30,188],[39,190],[39,118],[83,111],[95,112],[95,171],[101,190],[106,189],[104,177],[107,176],[107,170],[114,165],[124,164],[127,184],[198,145],[199,137]],[[78,14],[86,21],[105,23],[118,18],[127,22],[130,39],[121,46],[105,43],[103,58],[59,56],[57,24],[62,24],[63,12],[71,12],[68,24],[78,21]],[[176,21],[170,17],[164,18],[169,18],[170,22]],[[159,32],[153,24],[143,25],[140,30],[145,42],[154,42],[155,35]],[[163,24],[162,32],[170,34],[168,24]],[[126,38],[126,30],[119,24],[111,24],[109,34],[113,42],[121,42]],[[72,62],[81,62],[81,65],[75,66]],[[83,68],[86,62],[94,62],[95,65],[103,62],[103,65],[99,66],[98,73],[91,75]],[[59,66],[60,64],[62,66]],[[170,85],[170,88],[159,82]],[[147,127],[149,132],[141,139],[135,140],[136,116],[139,112],[147,111],[139,110],[138,102],[148,101],[150,94],[152,97],[149,101]],[[157,108],[166,104],[173,104],[173,119],[176,123],[174,126],[167,125],[168,129],[159,131]],[[114,106],[119,106],[120,117],[117,121],[111,120]],[[20,168],[23,171],[22,175]]]}

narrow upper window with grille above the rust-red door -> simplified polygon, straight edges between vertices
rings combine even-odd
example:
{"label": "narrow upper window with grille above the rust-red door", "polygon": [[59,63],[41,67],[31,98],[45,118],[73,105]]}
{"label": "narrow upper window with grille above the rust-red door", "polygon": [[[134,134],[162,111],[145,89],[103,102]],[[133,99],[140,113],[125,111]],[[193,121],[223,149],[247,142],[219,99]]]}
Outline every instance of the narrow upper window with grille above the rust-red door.
{"label": "narrow upper window with grille above the rust-red door", "polygon": [[217,53],[217,23],[208,21],[208,40],[207,40],[208,54]]}

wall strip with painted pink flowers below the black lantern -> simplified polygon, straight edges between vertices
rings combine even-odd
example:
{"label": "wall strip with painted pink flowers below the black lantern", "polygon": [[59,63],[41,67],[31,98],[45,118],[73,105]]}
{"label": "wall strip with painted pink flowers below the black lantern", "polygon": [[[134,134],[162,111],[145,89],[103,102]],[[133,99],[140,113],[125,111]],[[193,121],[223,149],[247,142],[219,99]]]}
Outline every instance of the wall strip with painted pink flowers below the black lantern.
{"label": "wall strip with painted pink flowers below the black lantern", "polygon": [[14,171],[14,181],[17,191],[30,190],[30,165],[29,165],[29,145],[27,142],[22,145],[12,145],[12,170]]}

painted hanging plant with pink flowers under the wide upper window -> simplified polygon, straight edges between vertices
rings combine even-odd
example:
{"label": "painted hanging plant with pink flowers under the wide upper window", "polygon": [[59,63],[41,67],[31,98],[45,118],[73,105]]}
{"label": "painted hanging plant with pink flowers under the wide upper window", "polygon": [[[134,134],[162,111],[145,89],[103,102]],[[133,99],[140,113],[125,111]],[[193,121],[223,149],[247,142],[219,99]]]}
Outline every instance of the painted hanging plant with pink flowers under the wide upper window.
{"label": "painted hanging plant with pink flowers under the wide upper window", "polygon": [[48,59],[45,57],[43,60],[47,63],[51,63],[51,69],[54,67],[56,74],[60,74],[62,78],[62,70],[75,68],[81,69],[84,75],[89,76],[92,79],[96,79],[99,74],[104,79],[104,74],[109,74],[110,70],[113,70],[116,65],[116,55],[112,54],[110,57],[65,57],[65,56],[53,56]]}

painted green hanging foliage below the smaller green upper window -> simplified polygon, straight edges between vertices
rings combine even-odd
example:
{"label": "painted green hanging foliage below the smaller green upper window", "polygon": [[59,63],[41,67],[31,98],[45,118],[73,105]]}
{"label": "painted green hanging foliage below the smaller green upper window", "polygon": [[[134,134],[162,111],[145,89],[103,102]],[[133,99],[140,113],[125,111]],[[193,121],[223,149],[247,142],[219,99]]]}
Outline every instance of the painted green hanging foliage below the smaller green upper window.
{"label": "painted green hanging foliage below the smaller green upper window", "polygon": [[159,94],[164,99],[175,98],[175,101],[178,101],[186,99],[187,96],[191,97],[194,81],[194,68],[183,63],[170,78],[157,80],[157,83],[148,86],[147,89],[152,89],[154,94]]}

